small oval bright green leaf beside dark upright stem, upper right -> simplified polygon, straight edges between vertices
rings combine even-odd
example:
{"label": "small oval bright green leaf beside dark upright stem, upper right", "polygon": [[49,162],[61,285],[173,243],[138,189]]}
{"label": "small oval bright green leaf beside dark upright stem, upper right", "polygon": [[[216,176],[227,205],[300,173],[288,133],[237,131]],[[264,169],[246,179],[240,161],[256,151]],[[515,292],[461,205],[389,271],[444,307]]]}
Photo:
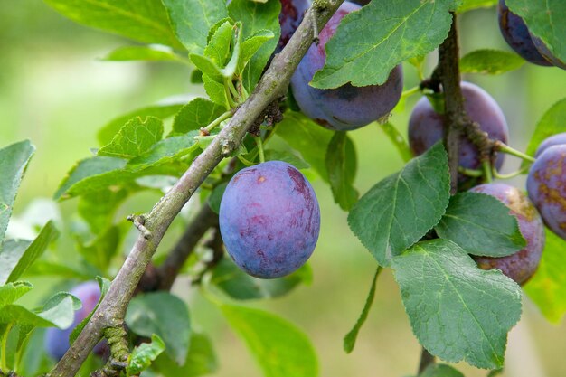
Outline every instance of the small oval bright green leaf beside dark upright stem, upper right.
{"label": "small oval bright green leaf beside dark upright stem, upper right", "polygon": [[476,50],[460,59],[462,73],[484,73],[498,75],[521,68],[524,59],[513,52],[497,50]]}

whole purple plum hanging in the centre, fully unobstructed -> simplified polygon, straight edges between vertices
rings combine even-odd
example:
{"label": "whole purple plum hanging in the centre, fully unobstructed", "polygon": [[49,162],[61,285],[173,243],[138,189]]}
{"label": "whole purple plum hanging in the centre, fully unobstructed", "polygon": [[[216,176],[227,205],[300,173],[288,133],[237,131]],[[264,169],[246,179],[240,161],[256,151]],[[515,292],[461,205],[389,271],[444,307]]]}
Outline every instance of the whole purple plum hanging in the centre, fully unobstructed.
{"label": "whole purple plum hanging in the centre, fully unobstructed", "polygon": [[228,254],[256,278],[301,267],[320,231],[316,194],[295,167],[269,161],[235,174],[222,196],[220,230]]}

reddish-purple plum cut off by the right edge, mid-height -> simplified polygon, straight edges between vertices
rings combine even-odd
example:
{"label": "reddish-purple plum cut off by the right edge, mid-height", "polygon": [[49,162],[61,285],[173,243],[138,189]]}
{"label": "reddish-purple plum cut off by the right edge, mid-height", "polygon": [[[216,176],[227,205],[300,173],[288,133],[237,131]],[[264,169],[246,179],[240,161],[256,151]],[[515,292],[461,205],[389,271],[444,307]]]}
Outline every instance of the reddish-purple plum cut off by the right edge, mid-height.
{"label": "reddish-purple plum cut off by the right edge, mid-height", "polygon": [[527,176],[527,191],[542,220],[566,240],[566,145],[549,146]]}

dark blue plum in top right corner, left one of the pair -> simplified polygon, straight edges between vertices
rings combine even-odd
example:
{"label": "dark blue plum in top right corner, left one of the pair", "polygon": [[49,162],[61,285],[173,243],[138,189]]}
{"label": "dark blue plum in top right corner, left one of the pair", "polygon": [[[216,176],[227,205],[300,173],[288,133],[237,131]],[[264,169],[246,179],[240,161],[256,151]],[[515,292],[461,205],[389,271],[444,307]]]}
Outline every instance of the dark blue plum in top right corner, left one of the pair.
{"label": "dark blue plum in top right corner, left one of the pair", "polygon": [[546,60],[535,47],[531,33],[529,33],[527,25],[524,24],[523,18],[511,12],[505,5],[505,0],[499,0],[497,16],[499,19],[499,29],[505,42],[509,44],[514,52],[517,52],[525,61],[530,61],[533,64],[552,66],[552,63]]}

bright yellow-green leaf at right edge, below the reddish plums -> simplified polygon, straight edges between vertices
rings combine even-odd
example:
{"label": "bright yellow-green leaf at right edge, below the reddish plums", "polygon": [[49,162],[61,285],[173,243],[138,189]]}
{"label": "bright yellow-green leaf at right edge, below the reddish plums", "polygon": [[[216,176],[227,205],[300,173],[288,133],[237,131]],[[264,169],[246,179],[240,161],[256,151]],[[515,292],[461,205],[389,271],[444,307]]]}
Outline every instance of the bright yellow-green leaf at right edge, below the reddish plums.
{"label": "bright yellow-green leaf at right edge, below the reddish plums", "polygon": [[566,241],[552,231],[546,231],[546,244],[539,268],[524,291],[549,321],[559,324],[566,314]]}

